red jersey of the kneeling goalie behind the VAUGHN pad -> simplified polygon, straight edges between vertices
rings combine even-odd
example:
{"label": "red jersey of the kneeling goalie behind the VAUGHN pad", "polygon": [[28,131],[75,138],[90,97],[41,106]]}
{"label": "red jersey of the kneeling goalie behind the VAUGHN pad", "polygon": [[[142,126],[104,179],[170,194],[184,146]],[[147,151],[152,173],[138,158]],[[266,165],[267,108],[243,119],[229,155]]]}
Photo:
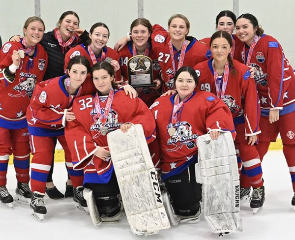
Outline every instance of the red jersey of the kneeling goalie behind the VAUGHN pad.
{"label": "red jersey of the kneeling goalie behind the VAUGHN pad", "polygon": [[[196,161],[198,136],[213,129],[231,131],[233,138],[236,136],[230,110],[210,92],[194,92],[177,111],[176,123],[172,123],[175,96],[160,97],[150,106],[156,120],[158,142],[152,143],[150,153],[160,156],[160,161],[153,158],[153,163],[156,168],[160,165],[163,180],[182,172]],[[171,133],[170,128],[175,132]]]}

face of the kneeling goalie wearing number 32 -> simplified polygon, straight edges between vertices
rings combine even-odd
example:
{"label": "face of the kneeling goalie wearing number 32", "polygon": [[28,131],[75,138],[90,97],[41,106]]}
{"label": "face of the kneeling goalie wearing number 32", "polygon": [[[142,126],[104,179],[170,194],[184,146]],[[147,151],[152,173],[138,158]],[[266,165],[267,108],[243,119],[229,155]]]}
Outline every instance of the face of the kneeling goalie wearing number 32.
{"label": "face of the kneeling goalie wearing number 32", "polygon": [[92,79],[95,88],[102,96],[109,95],[114,76],[111,76],[105,69],[99,69],[92,72]]}

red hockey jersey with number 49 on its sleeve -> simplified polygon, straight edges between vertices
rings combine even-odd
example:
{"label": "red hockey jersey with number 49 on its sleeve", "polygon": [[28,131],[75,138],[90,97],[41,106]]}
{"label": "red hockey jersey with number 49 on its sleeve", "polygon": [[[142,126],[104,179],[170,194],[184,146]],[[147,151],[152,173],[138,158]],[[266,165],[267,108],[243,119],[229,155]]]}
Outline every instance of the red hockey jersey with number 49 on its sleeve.
{"label": "red hockey jersey with number 49 on its sleeve", "polygon": [[[222,100],[231,110],[233,118],[242,118],[245,122],[245,136],[261,133],[259,128],[260,106],[256,85],[250,78],[249,68],[237,60],[233,60],[236,73],[230,67],[226,90]],[[194,66],[199,75],[197,90],[209,91],[216,95],[212,59]],[[222,78],[220,78],[222,81]]]}

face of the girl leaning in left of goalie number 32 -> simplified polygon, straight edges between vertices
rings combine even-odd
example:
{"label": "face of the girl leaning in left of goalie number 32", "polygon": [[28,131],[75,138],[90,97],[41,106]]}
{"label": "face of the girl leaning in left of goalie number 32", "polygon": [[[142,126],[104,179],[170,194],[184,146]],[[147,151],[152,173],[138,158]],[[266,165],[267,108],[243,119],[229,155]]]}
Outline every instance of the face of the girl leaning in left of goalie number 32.
{"label": "face of the girl leaning in left of goalie number 32", "polygon": [[70,76],[70,87],[78,89],[86,80],[87,67],[83,64],[73,64],[70,70],[67,70]]}

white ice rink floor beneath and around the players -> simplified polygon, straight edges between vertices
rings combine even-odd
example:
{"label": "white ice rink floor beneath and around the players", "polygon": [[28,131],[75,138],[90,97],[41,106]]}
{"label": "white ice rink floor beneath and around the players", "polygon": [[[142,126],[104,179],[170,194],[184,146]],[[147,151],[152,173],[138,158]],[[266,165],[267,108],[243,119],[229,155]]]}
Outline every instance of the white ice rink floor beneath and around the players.
{"label": "white ice rink floor beneath and around the players", "polygon": [[[248,204],[241,206],[244,230],[224,236],[225,240],[294,240],[295,210],[291,206],[293,196],[291,177],[282,150],[268,151],[263,161],[266,201],[264,209],[253,215]],[[56,163],[54,182],[64,192],[66,170],[64,163]],[[15,196],[16,179],[12,165],[8,168],[7,188]],[[30,217],[29,206],[13,203],[8,209],[0,205],[0,240],[135,240],[126,217],[118,223],[102,223],[94,227],[90,216],[74,209],[72,199],[51,200],[45,197],[47,214],[43,222]],[[197,224],[179,224],[150,240],[214,240],[204,217]]]}

